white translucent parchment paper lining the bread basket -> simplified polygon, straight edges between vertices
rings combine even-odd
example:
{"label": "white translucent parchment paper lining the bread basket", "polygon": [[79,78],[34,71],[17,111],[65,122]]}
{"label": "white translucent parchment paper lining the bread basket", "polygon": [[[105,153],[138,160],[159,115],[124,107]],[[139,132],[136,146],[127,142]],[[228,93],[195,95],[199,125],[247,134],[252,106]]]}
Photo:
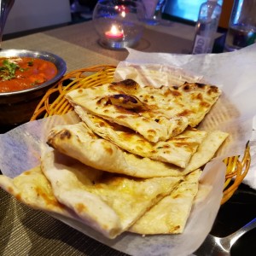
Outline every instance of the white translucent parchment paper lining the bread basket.
{"label": "white translucent parchment paper lining the bread basket", "polygon": [[[165,84],[166,78],[172,72],[171,75],[174,77],[176,74],[182,74],[177,79],[177,83],[180,79],[193,78],[198,82],[207,81],[218,85],[223,90],[224,96],[222,96],[220,104],[212,109],[213,119],[211,115],[207,116],[208,120],[204,122],[202,128],[206,130],[219,128],[230,133],[230,144],[234,147],[224,147],[225,150],[219,156],[243,154],[247,140],[252,137],[253,115],[256,113],[256,101],[254,100],[256,94],[255,45],[237,52],[218,55],[154,54],[137,52],[133,49],[129,49],[129,51],[130,55],[127,60],[119,63],[116,79],[130,78],[129,76],[132,74],[132,79],[142,83],[145,79],[146,81],[149,79],[153,84],[155,81],[157,81],[156,84]],[[146,73],[139,72],[134,77],[134,72],[129,73],[127,67],[131,69],[140,67]],[[148,67],[150,67],[150,74],[148,74]],[[157,69],[154,70],[154,67]],[[161,67],[160,70],[159,67]],[[159,73],[162,75],[159,76]],[[61,117],[55,116],[29,122],[0,135],[0,169],[3,174],[15,177],[21,172],[37,166],[40,162],[42,143],[45,143],[45,135],[51,125],[76,122],[78,122],[76,116],[73,113],[68,113]],[[221,158],[207,164],[201,177],[200,193],[181,235],[143,237],[125,232],[117,239],[109,240],[73,219],[54,216],[87,236],[124,253],[148,256],[189,255],[201,245],[212,229],[222,198],[224,172],[225,166]],[[204,193],[206,191],[207,193]]]}

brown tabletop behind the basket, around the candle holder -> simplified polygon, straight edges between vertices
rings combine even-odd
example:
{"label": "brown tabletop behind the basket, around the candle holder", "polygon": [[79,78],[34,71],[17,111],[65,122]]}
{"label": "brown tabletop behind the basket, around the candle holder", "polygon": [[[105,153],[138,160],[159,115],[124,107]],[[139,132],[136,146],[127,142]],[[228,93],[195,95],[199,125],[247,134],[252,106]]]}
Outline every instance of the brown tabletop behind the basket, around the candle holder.
{"label": "brown tabletop behind the basket, around the candle holder", "polygon": [[[185,35],[177,37],[177,30]],[[158,31],[162,32],[158,32]],[[188,34],[190,32],[190,36]],[[193,42],[193,26],[146,26],[143,38],[134,49],[145,52],[189,53]],[[98,44],[92,21],[63,26],[21,38],[3,41],[3,49],[47,50],[67,61],[69,70],[96,64],[117,64],[128,55],[126,49],[105,49]]]}

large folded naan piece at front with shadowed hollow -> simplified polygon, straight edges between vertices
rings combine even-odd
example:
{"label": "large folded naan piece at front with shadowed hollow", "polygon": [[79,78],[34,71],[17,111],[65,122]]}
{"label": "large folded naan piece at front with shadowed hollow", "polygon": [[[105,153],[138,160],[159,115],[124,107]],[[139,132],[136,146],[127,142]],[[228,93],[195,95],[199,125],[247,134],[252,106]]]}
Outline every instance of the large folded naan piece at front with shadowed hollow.
{"label": "large folded naan piece at front with shadowed hollow", "polygon": [[56,199],[109,238],[127,230],[182,180],[140,179],[101,172],[56,151],[42,155],[42,170]]}

